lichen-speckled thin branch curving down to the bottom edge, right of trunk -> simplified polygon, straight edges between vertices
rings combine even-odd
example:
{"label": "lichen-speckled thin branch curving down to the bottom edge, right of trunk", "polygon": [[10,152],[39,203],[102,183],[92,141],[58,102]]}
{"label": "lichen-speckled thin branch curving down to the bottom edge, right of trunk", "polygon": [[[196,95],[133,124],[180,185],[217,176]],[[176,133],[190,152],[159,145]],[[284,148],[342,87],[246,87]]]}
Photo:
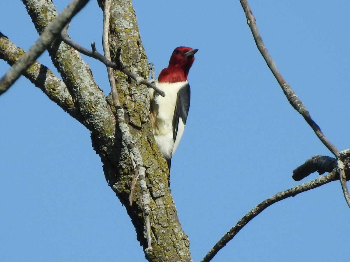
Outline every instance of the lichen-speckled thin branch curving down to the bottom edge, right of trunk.
{"label": "lichen-speckled thin branch curving down to the bottom edge, right of trunk", "polygon": [[255,206],[252,210],[250,210],[244,217],[242,217],[237,224],[232,227],[216,244],[214,247],[210,249],[208,254],[201,260],[201,262],[208,262],[210,261],[218,252],[220,249],[222,249],[226,244],[237,235],[237,233],[254,217],[256,217],[258,214],[260,214],[262,211],[264,211],[266,208],[271,206],[272,204],[281,201],[283,199],[286,199],[288,197],[294,197],[297,194],[300,194],[302,192],[308,191],[310,189],[314,189],[317,187],[320,187],[321,185],[324,185],[326,183],[329,183],[331,181],[338,179],[338,172],[336,169],[334,169],[331,173],[318,177],[317,179],[305,182],[301,185],[297,185],[296,187],[292,187],[290,189],[287,189],[285,191],[279,192],[276,195],[273,195],[269,198],[267,198],[265,201],[261,202],[257,206]]}

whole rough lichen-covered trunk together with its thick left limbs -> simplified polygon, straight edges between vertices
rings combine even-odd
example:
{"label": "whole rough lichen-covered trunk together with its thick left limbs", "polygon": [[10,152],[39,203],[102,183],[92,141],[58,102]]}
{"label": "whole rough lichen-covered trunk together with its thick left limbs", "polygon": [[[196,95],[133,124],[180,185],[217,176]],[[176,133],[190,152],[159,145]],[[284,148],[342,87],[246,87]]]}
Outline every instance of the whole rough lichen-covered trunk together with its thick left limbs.
{"label": "whole rough lichen-covered trunk together with its thick left limbs", "polygon": [[[40,34],[57,14],[55,6],[50,0],[22,1]],[[101,1],[99,4],[102,6]],[[148,62],[131,1],[112,0],[110,15],[109,41],[112,60],[116,63],[121,60],[130,71],[147,79]],[[89,66],[78,52],[60,39],[57,39],[48,51],[64,83],[38,63],[30,67],[25,76],[90,130],[92,144],[101,157],[106,179],[125,205],[135,226],[138,240],[145,250],[147,241],[141,205],[142,192],[137,184],[133,205],[129,206],[128,195],[133,167],[128,150],[121,140],[114,107],[94,82]],[[23,50],[0,35],[0,53],[0,58],[11,64],[18,59]],[[4,53],[11,55],[4,56]],[[142,155],[147,188],[151,195],[152,249],[145,251],[145,256],[149,261],[192,261],[189,240],[181,229],[175,204],[167,187],[167,165],[156,147],[151,131],[148,88],[137,85],[134,80],[119,71],[115,71],[114,74],[134,146],[138,147]]]}

